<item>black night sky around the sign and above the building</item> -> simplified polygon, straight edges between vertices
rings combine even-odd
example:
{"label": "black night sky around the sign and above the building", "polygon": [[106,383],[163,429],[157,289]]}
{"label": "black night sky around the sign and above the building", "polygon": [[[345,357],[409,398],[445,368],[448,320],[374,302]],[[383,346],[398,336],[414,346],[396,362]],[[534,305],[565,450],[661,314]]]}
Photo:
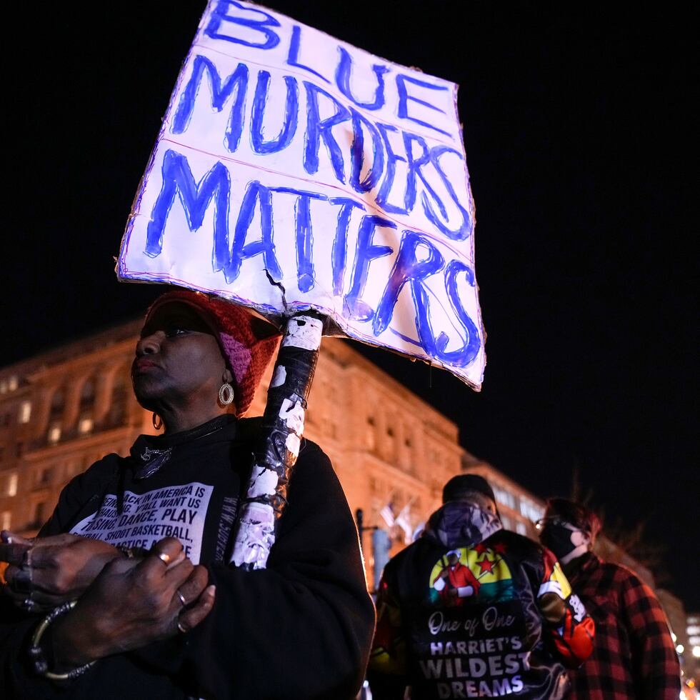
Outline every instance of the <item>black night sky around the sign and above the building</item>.
{"label": "black night sky around the sign and above the building", "polygon": [[[673,4],[271,1],[460,85],[486,326],[480,394],[356,346],[541,497],[574,474],[700,610],[694,22]],[[4,64],[0,364],[141,314],[113,257],[204,1],[16,14]],[[695,214],[695,211],[693,211]]]}

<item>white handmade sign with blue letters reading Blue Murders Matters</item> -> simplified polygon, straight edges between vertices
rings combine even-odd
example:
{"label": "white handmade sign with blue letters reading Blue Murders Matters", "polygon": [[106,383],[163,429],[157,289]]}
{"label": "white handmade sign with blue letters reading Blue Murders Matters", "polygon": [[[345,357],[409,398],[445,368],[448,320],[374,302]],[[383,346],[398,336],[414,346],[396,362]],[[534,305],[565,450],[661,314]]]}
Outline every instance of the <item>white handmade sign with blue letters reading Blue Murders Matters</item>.
{"label": "white handmade sign with blue letters reading Blue Murders Matters", "polygon": [[484,330],[456,85],[258,5],[211,0],[141,181],[119,278],[444,366]]}

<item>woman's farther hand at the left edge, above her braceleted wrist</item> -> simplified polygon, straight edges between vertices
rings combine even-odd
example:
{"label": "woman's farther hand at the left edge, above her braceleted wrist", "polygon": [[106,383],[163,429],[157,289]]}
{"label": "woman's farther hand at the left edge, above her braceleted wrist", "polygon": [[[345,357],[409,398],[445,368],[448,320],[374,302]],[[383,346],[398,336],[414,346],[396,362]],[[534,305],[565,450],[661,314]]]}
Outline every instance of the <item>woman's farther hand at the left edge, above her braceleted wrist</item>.
{"label": "woman's farther hand at the left edge, above her braceleted wrist", "polygon": [[50,610],[79,598],[106,564],[122,556],[111,544],[88,537],[28,540],[3,531],[0,561],[9,562],[4,593],[30,611]]}

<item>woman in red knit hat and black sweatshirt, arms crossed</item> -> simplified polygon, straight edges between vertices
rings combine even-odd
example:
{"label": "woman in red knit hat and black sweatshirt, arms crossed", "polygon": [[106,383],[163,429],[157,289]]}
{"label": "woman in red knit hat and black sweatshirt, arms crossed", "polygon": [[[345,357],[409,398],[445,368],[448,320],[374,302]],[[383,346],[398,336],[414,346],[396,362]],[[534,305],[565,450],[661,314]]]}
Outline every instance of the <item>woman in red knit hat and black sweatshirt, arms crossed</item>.
{"label": "woman in red knit hat and black sweatshirt, arms crossed", "polygon": [[270,329],[189,291],[151,306],[132,376],[164,434],[77,476],[33,541],[2,534],[4,697],[356,695],[374,607],[318,446],[302,441],[267,568],[229,565],[259,432],[236,416],[274,353]]}

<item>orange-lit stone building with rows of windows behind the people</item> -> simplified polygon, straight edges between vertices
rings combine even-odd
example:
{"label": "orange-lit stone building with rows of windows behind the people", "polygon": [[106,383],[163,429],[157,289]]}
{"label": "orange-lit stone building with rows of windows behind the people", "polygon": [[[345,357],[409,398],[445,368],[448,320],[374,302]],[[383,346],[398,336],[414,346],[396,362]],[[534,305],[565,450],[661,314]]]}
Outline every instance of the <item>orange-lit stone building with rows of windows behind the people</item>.
{"label": "orange-lit stone building with rows of windows behind the people", "polygon": [[[141,319],[131,321],[0,369],[0,529],[35,534],[70,479],[105,454],[128,454],[139,434],[156,432],[131,391],[140,326]],[[271,370],[249,415],[264,411]],[[391,529],[392,555],[440,505],[445,482],[463,471],[493,486],[506,528],[536,539],[544,502],[464,450],[452,421],[348,341],[323,341],[304,436],[329,455],[369,532],[388,529],[381,517],[386,506],[403,514],[404,531]],[[371,588],[369,532],[362,539]],[[654,586],[651,572],[610,541],[601,538],[599,551]]]}

